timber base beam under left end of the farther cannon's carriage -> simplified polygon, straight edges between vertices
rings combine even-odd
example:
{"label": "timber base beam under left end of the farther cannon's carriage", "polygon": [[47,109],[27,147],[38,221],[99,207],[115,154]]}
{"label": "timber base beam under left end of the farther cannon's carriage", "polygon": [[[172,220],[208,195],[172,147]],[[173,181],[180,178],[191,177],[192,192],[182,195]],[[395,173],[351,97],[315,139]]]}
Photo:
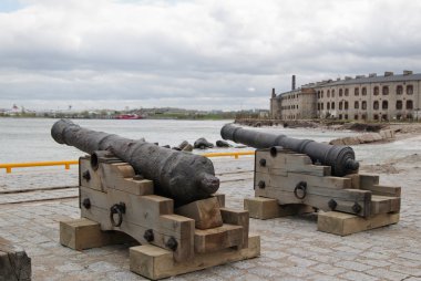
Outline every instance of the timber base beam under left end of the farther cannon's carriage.
{"label": "timber base beam under left end of the farther cannon's carriage", "polygon": [[244,209],[248,210],[250,218],[255,219],[273,219],[314,211],[310,206],[299,204],[280,206],[277,199],[265,197],[244,199]]}

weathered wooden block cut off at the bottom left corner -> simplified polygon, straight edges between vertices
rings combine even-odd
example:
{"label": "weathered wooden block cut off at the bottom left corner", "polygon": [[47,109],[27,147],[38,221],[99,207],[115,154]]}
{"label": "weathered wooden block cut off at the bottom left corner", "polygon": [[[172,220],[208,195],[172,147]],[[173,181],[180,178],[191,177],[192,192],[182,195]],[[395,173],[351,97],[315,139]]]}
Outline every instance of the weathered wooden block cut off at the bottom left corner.
{"label": "weathered wooden block cut off at the bottom left corner", "polygon": [[0,237],[0,281],[31,280],[31,258],[27,252]]}

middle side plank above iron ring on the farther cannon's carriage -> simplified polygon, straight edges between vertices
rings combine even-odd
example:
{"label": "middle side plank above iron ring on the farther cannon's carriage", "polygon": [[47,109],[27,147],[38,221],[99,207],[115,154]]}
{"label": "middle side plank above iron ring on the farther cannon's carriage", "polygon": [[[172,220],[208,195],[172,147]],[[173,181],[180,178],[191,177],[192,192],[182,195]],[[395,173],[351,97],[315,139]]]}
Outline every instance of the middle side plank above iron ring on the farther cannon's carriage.
{"label": "middle side plank above iron ring on the farther cannon's carriage", "polygon": [[259,181],[264,181],[266,186],[280,187],[283,189],[296,188],[300,181],[306,181],[307,187],[321,187],[329,189],[350,189],[351,179],[343,177],[318,177],[311,175],[302,175],[296,173],[288,173],[288,176],[277,176],[264,173],[255,173],[255,186],[259,188]]}

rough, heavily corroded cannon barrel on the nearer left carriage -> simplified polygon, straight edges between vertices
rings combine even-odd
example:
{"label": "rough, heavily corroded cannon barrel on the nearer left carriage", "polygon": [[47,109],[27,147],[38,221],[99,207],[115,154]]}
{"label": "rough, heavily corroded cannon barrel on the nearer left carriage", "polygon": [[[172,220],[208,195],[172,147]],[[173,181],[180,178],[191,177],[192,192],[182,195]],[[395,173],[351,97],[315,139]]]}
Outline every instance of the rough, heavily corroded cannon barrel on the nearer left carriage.
{"label": "rough, heavily corroded cannon barrel on the nearer left carriage", "polygon": [[143,140],[83,128],[69,119],[58,121],[51,136],[59,144],[93,154],[109,150],[154,181],[155,194],[174,199],[176,206],[208,198],[219,188],[212,162],[199,155],[160,147]]}

